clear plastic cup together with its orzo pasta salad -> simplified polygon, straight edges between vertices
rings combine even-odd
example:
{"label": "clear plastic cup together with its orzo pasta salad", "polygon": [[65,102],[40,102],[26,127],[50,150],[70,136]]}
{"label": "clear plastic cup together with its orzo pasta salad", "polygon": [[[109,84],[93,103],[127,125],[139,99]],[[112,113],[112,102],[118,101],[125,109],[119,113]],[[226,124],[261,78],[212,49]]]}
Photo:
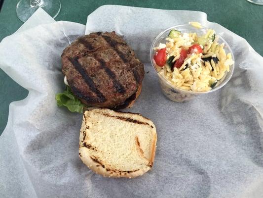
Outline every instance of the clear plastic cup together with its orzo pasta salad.
{"label": "clear plastic cup together with its orzo pasta salad", "polygon": [[161,33],[153,42],[151,61],[164,94],[184,101],[223,87],[234,64],[231,49],[225,44],[215,30],[197,22]]}

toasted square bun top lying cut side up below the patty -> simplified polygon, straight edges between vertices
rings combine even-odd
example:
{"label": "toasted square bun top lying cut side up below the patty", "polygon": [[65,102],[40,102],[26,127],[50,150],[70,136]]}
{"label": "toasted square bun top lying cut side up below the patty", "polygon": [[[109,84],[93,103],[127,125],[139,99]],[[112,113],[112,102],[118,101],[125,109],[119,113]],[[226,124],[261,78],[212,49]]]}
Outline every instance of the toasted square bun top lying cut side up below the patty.
{"label": "toasted square bun top lying cut side up below the patty", "polygon": [[154,124],[140,114],[91,109],[83,115],[79,156],[105,177],[134,178],[151,169],[156,140]]}

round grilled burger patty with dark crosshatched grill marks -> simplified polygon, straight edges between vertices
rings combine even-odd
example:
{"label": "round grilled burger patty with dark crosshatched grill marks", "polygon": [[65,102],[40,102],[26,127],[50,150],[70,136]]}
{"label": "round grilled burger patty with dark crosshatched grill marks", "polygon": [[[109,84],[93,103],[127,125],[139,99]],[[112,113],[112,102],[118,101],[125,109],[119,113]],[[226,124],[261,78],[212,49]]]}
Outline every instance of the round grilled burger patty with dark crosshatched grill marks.
{"label": "round grilled burger patty with dark crosshatched grill marks", "polygon": [[80,37],[61,56],[72,92],[88,106],[123,105],[135,97],[144,78],[144,65],[115,32]]}

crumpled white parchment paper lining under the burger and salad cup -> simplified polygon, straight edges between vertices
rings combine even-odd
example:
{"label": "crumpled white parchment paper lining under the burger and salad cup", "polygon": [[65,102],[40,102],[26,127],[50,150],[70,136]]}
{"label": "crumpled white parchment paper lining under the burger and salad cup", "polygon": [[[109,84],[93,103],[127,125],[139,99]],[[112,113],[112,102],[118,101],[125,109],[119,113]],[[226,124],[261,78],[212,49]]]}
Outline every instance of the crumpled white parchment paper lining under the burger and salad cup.
{"label": "crumpled white parchment paper lining under the burger and salad cup", "polygon": [[[40,10],[0,43],[1,69],[29,90],[10,104],[0,136],[1,198],[263,197],[263,57],[244,39],[196,11],[105,5],[86,28],[52,21]],[[162,30],[188,21],[223,36],[235,71],[220,91],[175,103],[161,93],[150,45]],[[128,111],[150,118],[158,135],[153,169],[130,180],[103,178],[81,162],[82,116],[54,99],[64,89],[62,50],[84,33],[113,30],[145,63],[143,91]]]}

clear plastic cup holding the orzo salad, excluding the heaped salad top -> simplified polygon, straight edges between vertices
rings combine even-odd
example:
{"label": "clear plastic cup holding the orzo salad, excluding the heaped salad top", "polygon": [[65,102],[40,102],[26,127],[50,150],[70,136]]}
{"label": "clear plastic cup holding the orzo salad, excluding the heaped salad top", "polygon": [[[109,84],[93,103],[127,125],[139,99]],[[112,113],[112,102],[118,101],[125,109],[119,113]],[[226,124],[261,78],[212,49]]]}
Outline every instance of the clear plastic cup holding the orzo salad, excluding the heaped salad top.
{"label": "clear plastic cup holding the orzo salad, excluding the heaped salad top", "polygon": [[[230,80],[230,78],[233,75],[234,64],[232,64],[229,67],[229,72],[225,72],[225,75],[223,76],[223,78],[220,81],[218,81],[217,85],[213,89],[211,89],[207,92],[193,92],[193,91],[187,91],[187,90],[180,89],[180,88],[172,85],[168,80],[165,79],[165,77],[163,77],[158,72],[157,67],[159,67],[159,66],[156,65],[156,63],[153,59],[153,55],[155,53],[155,50],[153,50],[153,48],[158,47],[160,43],[166,43],[165,38],[168,37],[169,32],[172,29],[179,30],[182,33],[194,33],[195,32],[198,36],[200,36],[200,35],[203,35],[204,33],[206,33],[208,28],[203,27],[203,28],[197,29],[190,24],[177,25],[177,26],[173,26],[171,28],[164,30],[154,39],[154,41],[151,45],[151,48],[150,48],[150,61],[151,61],[151,65],[153,66],[153,68],[156,71],[156,74],[159,77],[159,83],[160,83],[163,94],[168,99],[171,99],[173,101],[184,102],[184,101],[191,100],[191,99],[195,98],[196,96],[214,92],[216,90],[219,90],[223,86],[225,86],[225,84]],[[218,35],[218,37],[219,37],[218,43],[219,44],[225,43],[225,47],[224,47],[225,53],[226,54],[231,53],[232,59],[234,61],[234,55],[233,55],[233,52],[230,49],[229,45],[225,42],[225,40],[220,35]]]}

